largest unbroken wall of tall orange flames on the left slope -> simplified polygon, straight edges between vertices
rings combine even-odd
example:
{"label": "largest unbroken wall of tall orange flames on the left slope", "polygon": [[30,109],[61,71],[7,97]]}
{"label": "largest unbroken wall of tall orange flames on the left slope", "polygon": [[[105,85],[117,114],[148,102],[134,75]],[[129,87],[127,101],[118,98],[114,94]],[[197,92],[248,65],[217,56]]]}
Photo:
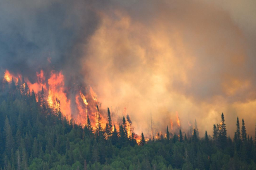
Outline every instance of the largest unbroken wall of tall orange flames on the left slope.
{"label": "largest unbroken wall of tall orange flames on the left slope", "polygon": [[[83,93],[81,89],[74,90],[76,93],[75,111],[71,108],[72,101],[68,98],[68,88],[66,88],[64,84],[65,78],[62,72],[52,71],[48,79],[46,79],[44,71],[37,72],[36,76],[37,81],[32,83],[28,81],[27,77],[12,75],[6,70],[4,72],[4,81],[11,82],[13,80],[16,86],[21,87],[21,90],[27,87],[29,93],[34,91],[37,102],[39,102],[40,105],[45,105],[56,113],[62,113],[67,120],[70,121],[73,119],[78,125],[81,124],[84,126],[86,124],[88,114],[92,125],[95,126],[95,116],[99,116],[99,108],[97,106],[97,94],[93,91],[92,87],[89,87],[88,91],[84,90],[87,94]],[[105,122],[106,120],[102,118],[102,125],[104,125]]]}

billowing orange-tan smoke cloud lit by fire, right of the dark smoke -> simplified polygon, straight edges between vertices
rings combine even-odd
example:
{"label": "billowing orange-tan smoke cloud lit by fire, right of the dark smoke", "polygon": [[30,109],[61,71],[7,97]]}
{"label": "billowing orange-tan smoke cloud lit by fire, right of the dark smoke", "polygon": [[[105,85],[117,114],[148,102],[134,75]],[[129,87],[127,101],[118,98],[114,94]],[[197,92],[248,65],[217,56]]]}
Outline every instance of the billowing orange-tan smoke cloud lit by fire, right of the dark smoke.
{"label": "billowing orange-tan smoke cloud lit by fire, right of the dark smoke", "polygon": [[196,118],[203,135],[224,112],[231,136],[236,116],[253,135],[255,34],[219,5],[133,1],[104,11],[83,59],[102,106],[126,107],[137,132],[149,132],[150,113],[164,131],[178,111],[182,128]]}

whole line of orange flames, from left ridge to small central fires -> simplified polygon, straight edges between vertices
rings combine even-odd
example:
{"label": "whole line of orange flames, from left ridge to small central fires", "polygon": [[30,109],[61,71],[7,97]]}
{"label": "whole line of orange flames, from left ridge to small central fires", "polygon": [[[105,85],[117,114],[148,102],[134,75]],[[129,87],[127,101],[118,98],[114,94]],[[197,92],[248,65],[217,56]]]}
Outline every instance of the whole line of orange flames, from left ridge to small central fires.
{"label": "whole line of orange flames, from left ridge to small central fires", "polygon": [[[99,103],[97,94],[91,86],[72,89],[72,92],[75,93],[75,99],[72,101],[69,96],[71,95],[70,88],[65,86],[65,77],[62,72],[51,71],[50,76],[47,78],[44,71],[41,70],[36,72],[36,76],[37,81],[30,82],[28,77],[23,77],[20,74],[11,74],[6,70],[4,72],[4,81],[12,83],[13,80],[15,86],[20,87],[20,91],[23,91],[24,94],[30,94],[33,91],[39,106],[49,108],[55,114],[61,113],[68,121],[72,120],[74,123],[85,127],[88,115],[95,132],[106,128],[106,116],[104,116],[104,111],[99,109],[101,103]],[[130,116],[126,114],[124,119],[123,126],[125,127],[126,135],[131,138],[135,134],[133,133]],[[117,130],[119,129],[118,122],[120,120],[113,120],[112,132],[114,131],[114,125],[116,125]],[[135,136],[135,139],[139,139],[138,135]]]}

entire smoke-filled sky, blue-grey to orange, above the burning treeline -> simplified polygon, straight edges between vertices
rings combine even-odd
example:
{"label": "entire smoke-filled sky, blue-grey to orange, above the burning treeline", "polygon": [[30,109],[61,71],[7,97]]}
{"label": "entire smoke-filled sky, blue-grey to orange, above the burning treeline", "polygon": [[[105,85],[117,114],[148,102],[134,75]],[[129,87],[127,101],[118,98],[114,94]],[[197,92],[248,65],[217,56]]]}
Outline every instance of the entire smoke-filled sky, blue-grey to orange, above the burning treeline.
{"label": "entire smoke-filled sky, blue-grey to orange, above the burning treeline", "polygon": [[[102,108],[149,133],[197,119],[200,135],[224,113],[254,134],[253,1],[31,1],[0,4],[0,69],[31,81],[63,71],[66,86],[89,84]],[[71,88],[72,89],[72,88]],[[152,116],[151,116],[152,115]],[[126,116],[126,115],[124,115]],[[254,116],[254,117],[253,117]]]}

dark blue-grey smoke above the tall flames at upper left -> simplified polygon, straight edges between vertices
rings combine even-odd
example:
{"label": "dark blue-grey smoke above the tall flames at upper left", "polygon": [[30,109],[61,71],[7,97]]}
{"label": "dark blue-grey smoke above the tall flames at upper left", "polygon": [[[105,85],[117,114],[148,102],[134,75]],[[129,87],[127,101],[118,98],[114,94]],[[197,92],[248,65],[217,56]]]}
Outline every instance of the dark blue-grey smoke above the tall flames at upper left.
{"label": "dark blue-grey smoke above the tall flames at upper left", "polygon": [[99,23],[93,5],[82,0],[1,1],[1,69],[32,81],[40,69],[48,74],[63,70],[68,79],[79,76],[81,45]]}

